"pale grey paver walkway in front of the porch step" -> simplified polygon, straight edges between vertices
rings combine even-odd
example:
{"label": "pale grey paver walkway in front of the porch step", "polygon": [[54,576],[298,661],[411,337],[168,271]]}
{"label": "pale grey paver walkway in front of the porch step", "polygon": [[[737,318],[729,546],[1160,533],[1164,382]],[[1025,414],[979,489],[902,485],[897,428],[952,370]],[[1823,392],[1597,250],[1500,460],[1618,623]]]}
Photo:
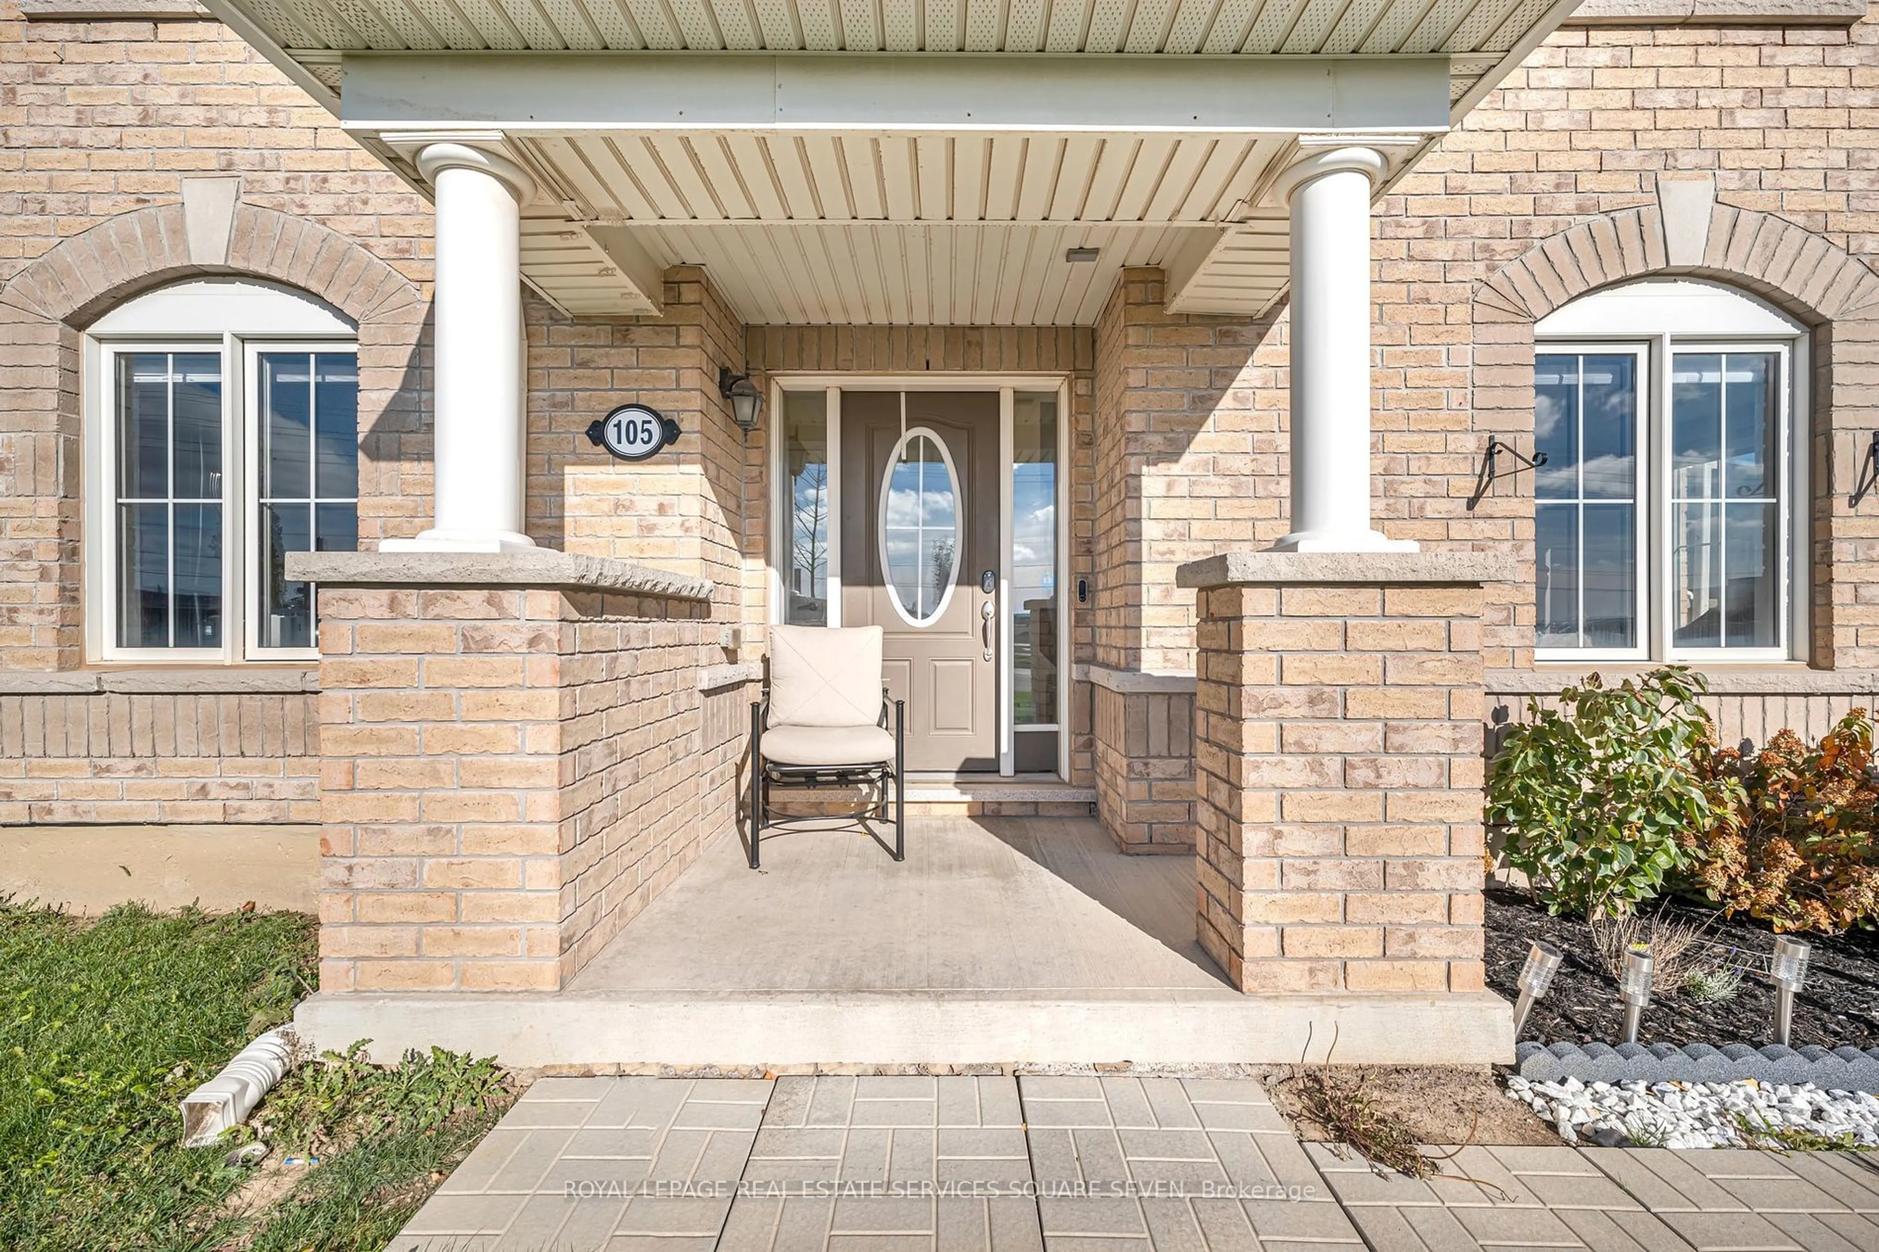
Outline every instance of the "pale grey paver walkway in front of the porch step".
{"label": "pale grey paver walkway in front of the porch step", "polygon": [[1847,1154],[1300,1145],[1251,1079],[541,1079],[391,1252],[1879,1252]]}

